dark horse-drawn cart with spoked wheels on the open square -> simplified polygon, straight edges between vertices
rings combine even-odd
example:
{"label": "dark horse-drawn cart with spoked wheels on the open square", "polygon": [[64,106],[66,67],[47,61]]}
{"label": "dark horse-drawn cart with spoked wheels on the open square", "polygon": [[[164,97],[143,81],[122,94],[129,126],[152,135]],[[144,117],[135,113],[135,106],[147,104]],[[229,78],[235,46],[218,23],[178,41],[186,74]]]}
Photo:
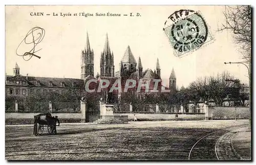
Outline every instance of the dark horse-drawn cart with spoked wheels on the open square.
{"label": "dark horse-drawn cart with spoked wheels on the open square", "polygon": [[[47,127],[47,130],[50,134],[56,134],[56,122],[57,118],[53,117],[50,112],[40,113],[34,116],[34,135],[41,135],[44,133],[44,128]],[[58,121],[59,123],[59,121]]]}

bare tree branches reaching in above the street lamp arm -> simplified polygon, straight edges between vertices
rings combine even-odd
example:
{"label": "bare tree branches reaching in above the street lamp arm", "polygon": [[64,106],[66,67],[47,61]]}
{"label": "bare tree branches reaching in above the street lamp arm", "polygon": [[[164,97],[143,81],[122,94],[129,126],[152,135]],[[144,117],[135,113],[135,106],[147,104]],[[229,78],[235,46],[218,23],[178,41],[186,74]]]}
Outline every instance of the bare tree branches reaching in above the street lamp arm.
{"label": "bare tree branches reaching in above the street lamp arm", "polygon": [[251,60],[251,6],[228,6],[225,7],[226,25],[223,28],[233,32],[234,43],[240,46],[239,52],[242,59]]}

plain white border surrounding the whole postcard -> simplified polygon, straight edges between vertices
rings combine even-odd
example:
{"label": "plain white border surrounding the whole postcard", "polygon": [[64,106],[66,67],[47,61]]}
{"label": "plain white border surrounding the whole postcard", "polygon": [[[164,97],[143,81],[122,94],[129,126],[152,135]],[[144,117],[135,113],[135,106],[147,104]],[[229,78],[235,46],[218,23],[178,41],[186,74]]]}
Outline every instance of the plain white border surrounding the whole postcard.
{"label": "plain white border surrounding the whole postcard", "polygon": [[[142,0],[130,0],[130,1],[113,1],[113,0],[108,0],[108,1],[100,1],[100,0],[94,0],[94,1],[53,1],[53,0],[45,0],[45,1],[1,1],[1,7],[0,7],[0,10],[1,10],[1,51],[2,51],[2,56],[1,56],[1,59],[0,61],[2,62],[2,65],[0,65],[0,69],[1,69],[1,73],[2,73],[2,80],[0,81],[1,83],[1,86],[3,87],[2,89],[5,90],[5,78],[4,78],[4,74],[5,74],[5,5],[252,5],[253,7],[255,7],[255,2],[256,1],[249,1],[249,0],[233,0],[233,1],[223,1],[223,0],[216,0],[216,1],[189,1],[189,0],[186,0],[186,1],[164,1],[164,0],[158,0],[158,1],[142,1]],[[254,10],[254,9],[253,9]],[[253,11],[253,13],[255,13],[255,10]],[[254,19],[254,15],[253,15],[253,22],[255,22],[255,19]],[[254,28],[253,28],[254,29]],[[253,37],[254,38],[254,37]],[[255,44],[255,42],[254,42]],[[254,47],[254,44],[253,44],[253,47]],[[254,57],[255,59],[255,57]],[[254,72],[253,72],[254,73]],[[254,74],[253,74],[254,76]],[[3,90],[3,91],[4,91]],[[1,121],[3,122],[2,125],[1,125],[1,134],[2,134],[2,137],[1,137],[1,142],[3,145],[1,145],[1,162],[6,164],[7,161],[5,160],[5,119],[4,119],[4,116],[5,116],[5,108],[4,108],[4,105],[5,105],[5,102],[4,102],[4,98],[5,98],[5,92],[1,92],[1,110],[2,110],[2,119]],[[254,92],[253,92],[254,93]],[[255,97],[254,97],[255,99]],[[255,100],[252,101],[252,103],[255,103]],[[253,118],[255,116],[255,113],[254,112],[254,115],[253,115]],[[254,143],[255,144],[255,143]],[[254,147],[254,146],[253,146]],[[254,148],[255,149],[255,148]],[[255,153],[255,151],[253,152]],[[254,158],[255,158],[255,155],[253,155]],[[12,162],[12,163],[18,163],[18,162]],[[29,163],[29,162],[23,162],[23,163]],[[36,163],[36,162],[30,162],[30,163]],[[42,164],[44,162],[37,162],[39,164]],[[68,163],[70,164],[71,162],[46,162],[46,163],[56,163],[56,164],[59,164],[59,163]],[[76,163],[76,162],[74,162]],[[113,163],[113,162],[80,162],[80,163]],[[116,163],[127,163],[127,162],[116,162]],[[128,162],[128,164],[130,163],[141,163],[141,162]],[[156,162],[146,162],[146,163],[156,163]],[[160,162],[158,162],[160,163]],[[163,163],[163,162],[161,162]],[[165,163],[176,163],[176,162],[165,162]],[[181,162],[179,162],[181,163]],[[182,162],[182,163],[186,163],[186,162]],[[189,162],[191,163],[191,162]],[[194,163],[205,163],[205,162],[194,162]],[[208,162],[207,162],[208,163]],[[213,162],[215,163],[215,162]],[[227,162],[222,162],[222,163],[219,163],[219,164],[226,164]],[[241,162],[237,162],[237,163],[241,163]]]}

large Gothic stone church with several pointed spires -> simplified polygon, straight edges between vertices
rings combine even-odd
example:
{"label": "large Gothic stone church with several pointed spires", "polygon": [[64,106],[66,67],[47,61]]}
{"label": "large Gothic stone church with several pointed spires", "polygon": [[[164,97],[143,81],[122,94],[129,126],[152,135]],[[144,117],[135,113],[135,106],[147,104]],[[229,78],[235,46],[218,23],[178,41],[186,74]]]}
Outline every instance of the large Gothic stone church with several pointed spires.
{"label": "large Gothic stone church with several pointed spires", "polygon": [[[100,74],[94,77],[94,53],[90,48],[89,36],[87,33],[87,46],[81,52],[81,79],[86,82],[90,79],[104,79],[109,80],[110,84],[119,79],[121,81],[122,87],[125,86],[127,79],[132,79],[142,82],[150,82],[150,89],[154,88],[154,80],[159,80],[159,90],[164,89],[176,89],[176,75],[174,68],[169,77],[169,86],[161,86],[161,68],[158,58],[156,59],[156,68],[154,71],[150,68],[143,70],[142,62],[140,57],[138,58],[138,63],[132,53],[130,46],[128,45],[124,51],[124,55],[119,63],[119,70],[115,72],[114,66],[114,53],[110,49],[108,34],[106,34],[105,44],[103,51],[100,54]],[[137,83],[138,84],[138,83]],[[136,87],[135,87],[136,89]]]}

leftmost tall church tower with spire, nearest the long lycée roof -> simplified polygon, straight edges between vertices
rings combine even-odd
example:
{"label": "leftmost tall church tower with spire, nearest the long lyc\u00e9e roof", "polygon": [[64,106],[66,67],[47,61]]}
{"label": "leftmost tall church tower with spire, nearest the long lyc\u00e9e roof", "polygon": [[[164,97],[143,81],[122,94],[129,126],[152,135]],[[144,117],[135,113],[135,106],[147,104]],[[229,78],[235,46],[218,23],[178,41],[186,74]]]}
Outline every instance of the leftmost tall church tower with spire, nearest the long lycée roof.
{"label": "leftmost tall church tower with spire, nearest the long lyc\u00e9e roof", "polygon": [[85,79],[89,75],[94,77],[94,53],[93,49],[90,48],[87,33],[87,46],[81,53],[81,79]]}

